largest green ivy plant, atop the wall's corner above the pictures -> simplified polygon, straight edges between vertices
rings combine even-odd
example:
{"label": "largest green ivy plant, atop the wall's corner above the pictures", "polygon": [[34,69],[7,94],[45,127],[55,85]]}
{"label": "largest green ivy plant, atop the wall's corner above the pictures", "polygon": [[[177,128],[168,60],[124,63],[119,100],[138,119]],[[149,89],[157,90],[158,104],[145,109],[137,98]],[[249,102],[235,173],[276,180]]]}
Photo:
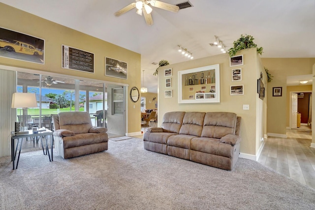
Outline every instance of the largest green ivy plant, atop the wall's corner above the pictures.
{"label": "largest green ivy plant, atop the wall's corner above the pictures", "polygon": [[241,37],[233,42],[233,47],[230,48],[227,53],[230,55],[230,57],[233,57],[240,50],[256,47],[257,53],[261,55],[263,53],[262,52],[263,48],[262,47],[258,48],[257,45],[253,42],[253,40],[254,38],[251,35],[245,34],[244,36],[243,34],[241,34]]}

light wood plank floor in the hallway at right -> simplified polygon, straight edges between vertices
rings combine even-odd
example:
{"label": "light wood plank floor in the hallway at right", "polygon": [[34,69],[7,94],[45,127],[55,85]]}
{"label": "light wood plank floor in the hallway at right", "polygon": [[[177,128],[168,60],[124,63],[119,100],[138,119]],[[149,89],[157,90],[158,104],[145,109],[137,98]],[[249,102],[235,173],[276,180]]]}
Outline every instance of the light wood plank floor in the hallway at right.
{"label": "light wood plank floor in the hallway at right", "polygon": [[291,129],[287,138],[268,137],[258,162],[315,189],[315,148],[310,129]]}

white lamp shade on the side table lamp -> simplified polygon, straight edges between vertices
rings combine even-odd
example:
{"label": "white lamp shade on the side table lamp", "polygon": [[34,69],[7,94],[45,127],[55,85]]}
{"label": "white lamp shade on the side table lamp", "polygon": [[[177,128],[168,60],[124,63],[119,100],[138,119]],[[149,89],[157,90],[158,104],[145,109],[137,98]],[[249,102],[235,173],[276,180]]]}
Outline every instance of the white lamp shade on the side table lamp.
{"label": "white lamp shade on the side table lamp", "polygon": [[15,92],[12,95],[12,108],[37,108],[36,94]]}

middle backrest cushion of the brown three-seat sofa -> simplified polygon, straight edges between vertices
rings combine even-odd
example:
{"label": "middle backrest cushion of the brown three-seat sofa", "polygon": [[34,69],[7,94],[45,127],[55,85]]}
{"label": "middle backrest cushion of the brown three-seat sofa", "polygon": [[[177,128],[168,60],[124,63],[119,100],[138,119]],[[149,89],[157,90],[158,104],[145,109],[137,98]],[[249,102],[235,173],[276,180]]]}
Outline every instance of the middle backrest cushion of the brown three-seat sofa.
{"label": "middle backrest cushion of the brown three-seat sofa", "polygon": [[206,113],[204,112],[186,112],[183,118],[183,125],[179,131],[179,134],[200,137],[205,114]]}

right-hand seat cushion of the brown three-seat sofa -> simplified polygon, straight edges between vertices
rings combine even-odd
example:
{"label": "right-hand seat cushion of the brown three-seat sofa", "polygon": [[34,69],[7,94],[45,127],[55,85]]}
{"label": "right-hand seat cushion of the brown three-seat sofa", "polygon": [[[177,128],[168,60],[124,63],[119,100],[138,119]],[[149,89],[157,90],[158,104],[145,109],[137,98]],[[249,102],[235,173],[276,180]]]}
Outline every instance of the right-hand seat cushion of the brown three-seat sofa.
{"label": "right-hand seat cushion of the brown three-seat sofa", "polygon": [[221,143],[218,139],[197,137],[191,139],[190,150],[201,151],[224,157],[233,157],[233,146]]}

